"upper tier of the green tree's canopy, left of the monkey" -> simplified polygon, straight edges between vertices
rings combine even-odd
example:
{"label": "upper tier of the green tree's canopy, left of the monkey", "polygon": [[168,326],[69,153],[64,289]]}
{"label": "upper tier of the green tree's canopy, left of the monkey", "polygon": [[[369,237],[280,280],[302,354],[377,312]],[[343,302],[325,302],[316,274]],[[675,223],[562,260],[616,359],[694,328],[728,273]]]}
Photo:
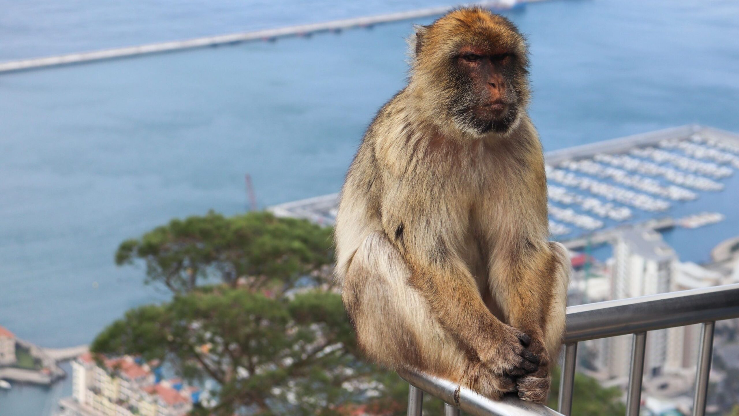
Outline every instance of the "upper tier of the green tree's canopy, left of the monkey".
{"label": "upper tier of the green tree's canopy, left of the monkey", "polygon": [[285,292],[299,279],[330,284],[332,230],[268,212],[173,219],[122,242],[117,265],[143,262],[146,283],[185,293],[205,282]]}

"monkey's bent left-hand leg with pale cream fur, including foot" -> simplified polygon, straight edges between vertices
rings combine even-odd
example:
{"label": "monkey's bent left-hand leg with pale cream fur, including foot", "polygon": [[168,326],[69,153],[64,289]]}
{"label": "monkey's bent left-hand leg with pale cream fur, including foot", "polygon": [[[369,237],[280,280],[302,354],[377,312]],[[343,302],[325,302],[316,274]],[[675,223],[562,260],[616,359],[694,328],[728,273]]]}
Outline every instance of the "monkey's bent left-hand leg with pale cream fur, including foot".
{"label": "monkey's bent left-hand leg with pale cream fur, including foot", "polygon": [[499,399],[514,389],[460,345],[409,286],[409,268],[383,233],[371,233],[353,256],[342,298],[364,352],[392,369],[413,368]]}

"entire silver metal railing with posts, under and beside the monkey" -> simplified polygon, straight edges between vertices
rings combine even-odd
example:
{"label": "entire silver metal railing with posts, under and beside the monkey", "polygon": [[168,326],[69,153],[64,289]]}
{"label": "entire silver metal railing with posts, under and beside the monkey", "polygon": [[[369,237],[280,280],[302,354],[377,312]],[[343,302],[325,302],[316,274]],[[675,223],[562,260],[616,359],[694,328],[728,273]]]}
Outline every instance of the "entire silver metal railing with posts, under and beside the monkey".
{"label": "entire silver metal railing with posts, under and beside the monkey", "polygon": [[577,343],[633,334],[626,415],[638,416],[647,331],[702,324],[692,416],[704,416],[715,321],[730,318],[739,318],[739,284],[568,307],[565,359],[559,383],[559,412],[514,397],[489,400],[451,381],[420,372],[402,370],[398,375],[409,383],[408,416],[421,415],[423,392],[445,402],[445,416],[458,416],[460,409],[471,416],[569,416],[572,411]]}

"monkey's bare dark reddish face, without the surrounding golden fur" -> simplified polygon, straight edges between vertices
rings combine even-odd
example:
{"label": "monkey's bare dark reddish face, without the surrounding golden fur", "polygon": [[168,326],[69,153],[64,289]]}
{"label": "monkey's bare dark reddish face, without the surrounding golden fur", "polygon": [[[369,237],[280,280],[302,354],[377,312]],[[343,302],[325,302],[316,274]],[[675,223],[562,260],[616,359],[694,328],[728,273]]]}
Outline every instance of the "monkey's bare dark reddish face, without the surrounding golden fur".
{"label": "monkey's bare dark reddish face, without the surrounding golden fur", "polygon": [[478,134],[505,133],[522,104],[517,57],[500,47],[460,47],[452,63],[454,121]]}

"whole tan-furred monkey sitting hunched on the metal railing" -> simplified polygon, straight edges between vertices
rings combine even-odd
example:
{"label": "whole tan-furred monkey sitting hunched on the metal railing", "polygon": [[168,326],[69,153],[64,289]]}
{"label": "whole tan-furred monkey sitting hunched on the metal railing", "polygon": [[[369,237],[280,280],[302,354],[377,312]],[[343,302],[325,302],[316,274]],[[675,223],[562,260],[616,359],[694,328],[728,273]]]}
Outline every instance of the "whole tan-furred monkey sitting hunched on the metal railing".
{"label": "whole tan-furred monkey sitting hunched on the metal railing", "polygon": [[542,403],[571,265],[548,241],[525,40],[507,18],[463,7],[409,44],[408,83],[367,128],[336,215],[358,345],[390,369]]}

